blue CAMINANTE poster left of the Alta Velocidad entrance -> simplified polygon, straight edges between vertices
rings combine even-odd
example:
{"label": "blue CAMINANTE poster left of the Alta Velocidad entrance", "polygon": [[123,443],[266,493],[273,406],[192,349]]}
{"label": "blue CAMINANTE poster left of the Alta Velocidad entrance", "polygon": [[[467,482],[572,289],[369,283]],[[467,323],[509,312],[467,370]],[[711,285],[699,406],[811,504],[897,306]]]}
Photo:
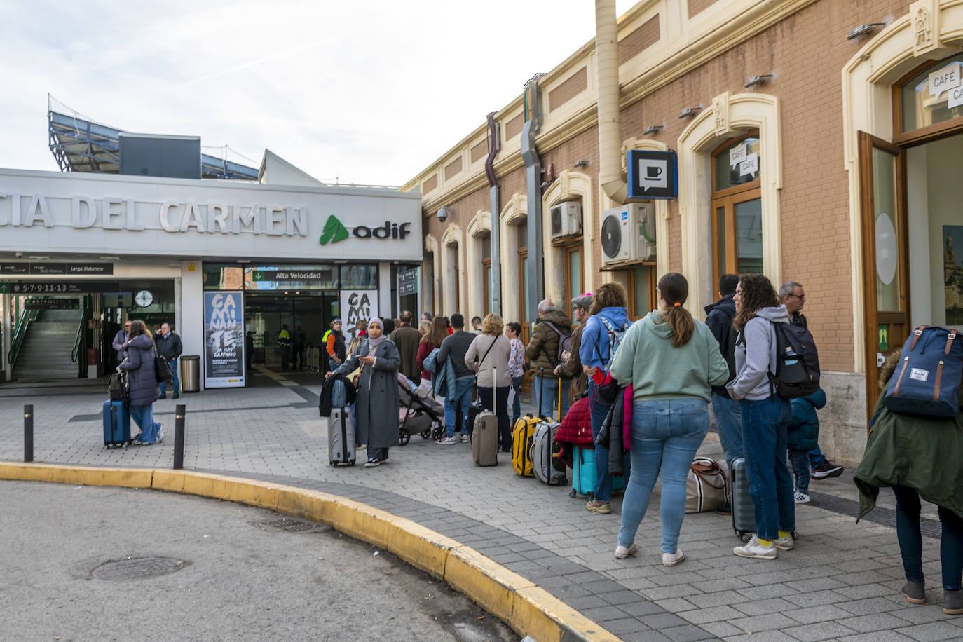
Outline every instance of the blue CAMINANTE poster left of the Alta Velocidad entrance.
{"label": "blue CAMINANTE poster left of the Alta Velocidad entrance", "polygon": [[244,387],[244,299],[204,293],[204,387]]}

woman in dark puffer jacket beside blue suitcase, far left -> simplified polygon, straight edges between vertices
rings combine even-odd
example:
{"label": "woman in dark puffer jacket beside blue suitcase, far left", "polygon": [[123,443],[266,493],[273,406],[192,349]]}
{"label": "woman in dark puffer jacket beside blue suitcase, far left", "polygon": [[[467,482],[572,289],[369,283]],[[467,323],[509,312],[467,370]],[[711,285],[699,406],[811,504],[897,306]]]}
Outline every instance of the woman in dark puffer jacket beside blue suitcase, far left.
{"label": "woman in dark puffer jacket beside blue suitcase, far left", "polygon": [[127,358],[117,366],[118,371],[126,371],[130,380],[130,416],[141,427],[141,434],[134,443],[138,445],[158,444],[164,441],[164,428],[154,421],[153,403],[161,394],[154,374],[154,359],[157,348],[143,321],[130,324],[130,335],[126,343]]}

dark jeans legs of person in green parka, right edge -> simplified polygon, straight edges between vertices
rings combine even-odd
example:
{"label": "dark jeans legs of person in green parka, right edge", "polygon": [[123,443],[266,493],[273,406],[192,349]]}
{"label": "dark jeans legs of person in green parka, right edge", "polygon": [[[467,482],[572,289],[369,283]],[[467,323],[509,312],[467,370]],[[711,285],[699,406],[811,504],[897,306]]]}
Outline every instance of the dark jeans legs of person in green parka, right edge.
{"label": "dark jeans legs of person in green parka, right edge", "polygon": [[[913,488],[894,486],[897,496],[897,540],[907,581],[923,581],[923,535],[920,533],[920,495]],[[958,591],[963,580],[963,519],[949,508],[938,506],[940,515],[940,563],[943,588]]]}

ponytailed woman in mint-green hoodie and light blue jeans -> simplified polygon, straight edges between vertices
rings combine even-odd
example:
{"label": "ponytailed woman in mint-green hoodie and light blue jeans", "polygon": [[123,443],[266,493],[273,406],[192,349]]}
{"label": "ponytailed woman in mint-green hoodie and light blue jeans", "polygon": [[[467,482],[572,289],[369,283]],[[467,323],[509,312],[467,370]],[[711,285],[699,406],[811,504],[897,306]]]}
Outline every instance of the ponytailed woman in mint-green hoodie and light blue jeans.
{"label": "ponytailed woman in mint-green hoodie and light blue jeans", "polygon": [[686,477],[709,431],[712,387],[729,378],[713,333],[682,307],[689,282],[677,272],[659,279],[659,308],[625,333],[612,360],[612,378],[632,383],[632,474],[622,501],[615,557],[637,552],[635,539],[656,479],[661,477],[662,556],[685,558],[678,547],[686,514]]}

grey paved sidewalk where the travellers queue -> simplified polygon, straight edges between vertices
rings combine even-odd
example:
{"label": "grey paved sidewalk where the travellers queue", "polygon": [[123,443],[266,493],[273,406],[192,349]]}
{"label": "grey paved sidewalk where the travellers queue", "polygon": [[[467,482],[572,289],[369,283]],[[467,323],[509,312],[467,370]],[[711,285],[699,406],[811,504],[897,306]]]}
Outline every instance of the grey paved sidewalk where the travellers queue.
{"label": "grey paved sidewalk where the travellers queue", "polygon": [[[532,579],[626,640],[729,640],[748,633],[752,640],[963,639],[963,617],[944,615],[938,605],[936,540],[924,540],[930,603],[912,606],[899,595],[894,528],[865,520],[856,525],[818,507],[820,493],[856,498],[847,476],[813,484],[816,505],[796,511],[796,549],[776,561],[735,557],[739,540],[730,520],[702,513],[687,515],[683,524],[686,560],[666,568],[655,509],[639,528],[638,557],[617,560],[619,497],[612,515],[595,515],[584,499],[570,499],[567,488],[515,475],[508,458],[500,457],[494,469],[478,468],[469,445],[438,447],[417,435],[377,469],[333,469],[312,392],[320,387],[317,375],[273,380],[280,385],[183,395],[185,467],[324,490],[407,517]],[[103,448],[102,401],[97,392],[0,396],[0,459],[22,459],[22,404],[33,403],[37,461],[171,464],[173,401],[154,406],[165,443],[130,449]],[[720,452],[711,439],[702,450]],[[886,493],[881,499],[889,502]]]}

